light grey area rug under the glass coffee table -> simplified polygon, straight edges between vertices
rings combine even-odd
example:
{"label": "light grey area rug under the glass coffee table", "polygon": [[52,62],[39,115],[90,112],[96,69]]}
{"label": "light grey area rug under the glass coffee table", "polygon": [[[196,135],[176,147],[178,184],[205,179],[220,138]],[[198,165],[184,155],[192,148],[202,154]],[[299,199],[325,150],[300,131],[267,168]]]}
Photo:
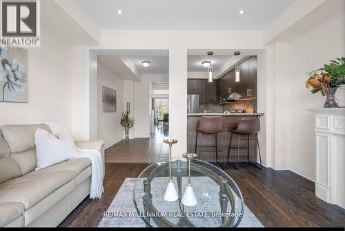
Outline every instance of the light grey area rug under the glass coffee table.
{"label": "light grey area rug under the glass coffee table", "polygon": [[[116,216],[110,215],[110,217],[103,217],[98,227],[146,227],[144,221],[140,217],[128,216],[128,214],[137,211],[132,199],[132,190],[135,185],[135,181],[135,178],[125,179],[107,210],[108,214],[114,214],[115,212]],[[157,191],[163,194],[165,186],[164,184],[161,185],[161,189],[158,189]],[[161,197],[163,197],[163,195],[161,195]],[[253,212],[244,205],[244,214],[238,227],[264,227],[264,225],[262,225]]]}

